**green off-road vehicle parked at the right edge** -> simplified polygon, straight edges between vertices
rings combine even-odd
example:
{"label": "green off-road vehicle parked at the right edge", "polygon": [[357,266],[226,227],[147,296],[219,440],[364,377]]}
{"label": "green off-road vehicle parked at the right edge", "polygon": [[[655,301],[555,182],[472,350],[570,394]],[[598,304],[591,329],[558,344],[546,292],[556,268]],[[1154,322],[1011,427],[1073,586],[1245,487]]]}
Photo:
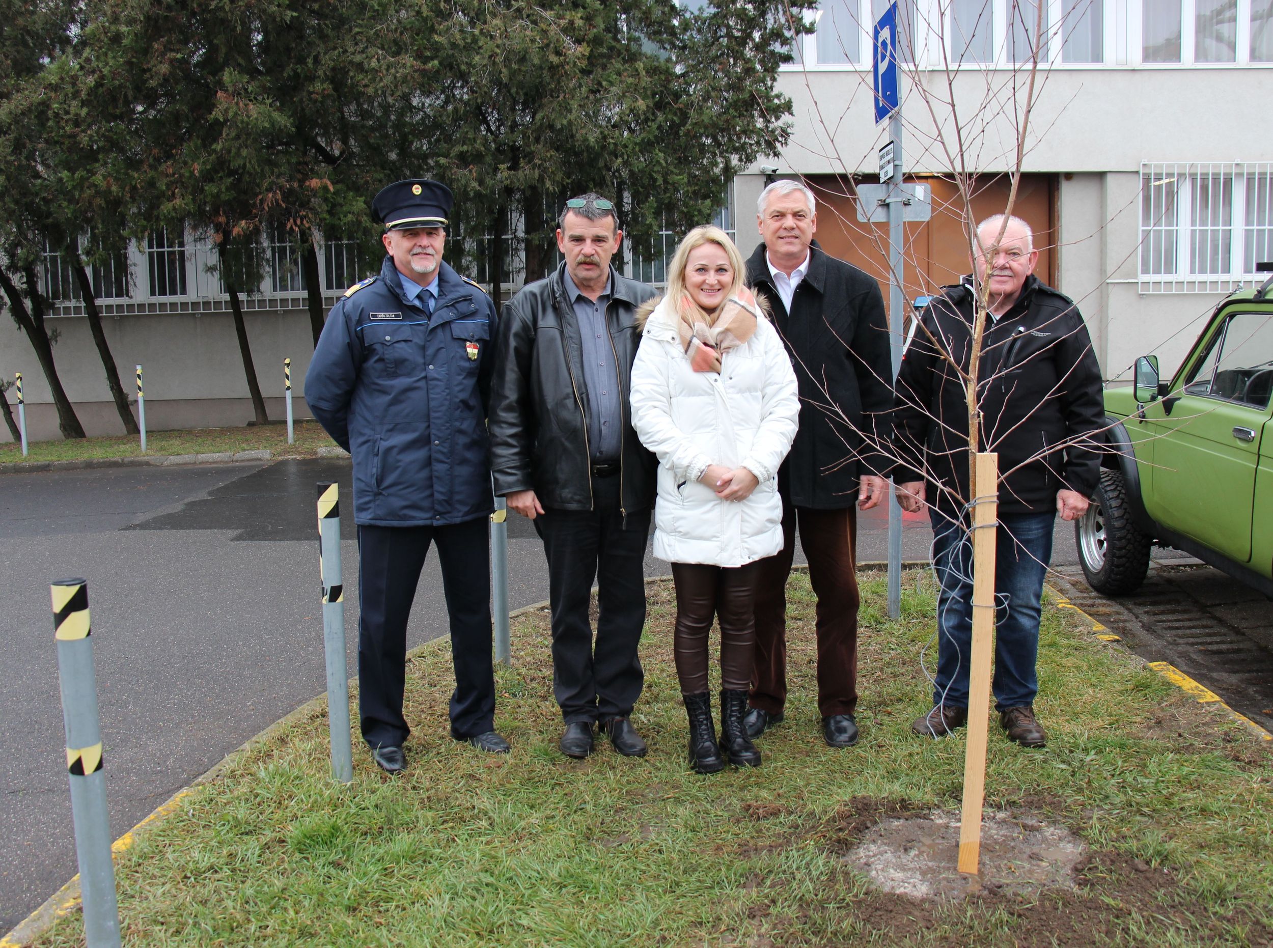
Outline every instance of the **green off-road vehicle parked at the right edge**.
{"label": "green off-road vehicle parked at the right edge", "polygon": [[1109,448],[1074,527],[1096,592],[1133,592],[1158,543],[1273,597],[1270,286],[1225,299],[1170,382],[1148,355],[1134,384],[1106,387]]}

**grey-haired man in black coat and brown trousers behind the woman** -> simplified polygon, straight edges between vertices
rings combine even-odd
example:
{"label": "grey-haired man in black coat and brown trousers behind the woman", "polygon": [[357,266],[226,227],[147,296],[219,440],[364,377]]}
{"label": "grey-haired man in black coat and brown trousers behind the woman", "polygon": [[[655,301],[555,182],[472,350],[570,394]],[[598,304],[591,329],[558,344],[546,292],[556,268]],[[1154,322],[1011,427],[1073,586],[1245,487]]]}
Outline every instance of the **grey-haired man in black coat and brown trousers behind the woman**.
{"label": "grey-haired man in black coat and brown trousers behind the woman", "polygon": [[831,747],[858,739],[857,510],[887,492],[892,407],[889,323],[880,286],[813,246],[813,193],[775,181],[760,195],[764,243],[747,282],[764,296],[796,368],[799,431],[778,473],[783,548],[764,560],[756,588],[756,668],[747,733],[783,719],[787,701],[787,598],[796,526],[817,594],[817,705]]}

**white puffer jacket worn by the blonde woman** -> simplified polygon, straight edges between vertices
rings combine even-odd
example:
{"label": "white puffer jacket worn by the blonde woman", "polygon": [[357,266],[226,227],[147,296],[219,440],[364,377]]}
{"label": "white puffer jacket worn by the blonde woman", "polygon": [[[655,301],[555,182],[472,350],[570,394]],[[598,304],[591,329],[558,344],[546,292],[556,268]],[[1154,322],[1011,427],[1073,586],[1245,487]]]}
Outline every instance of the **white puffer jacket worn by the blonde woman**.
{"label": "white puffer jacket worn by the blonde woman", "polygon": [[[642,444],[659,461],[654,556],[742,566],[782,548],[778,467],[796,438],[799,400],[796,373],[768,319],[724,352],[719,375],[694,372],[665,298],[636,349],[631,410]],[[721,500],[699,481],[708,464],[746,467],[760,485],[741,503]]]}

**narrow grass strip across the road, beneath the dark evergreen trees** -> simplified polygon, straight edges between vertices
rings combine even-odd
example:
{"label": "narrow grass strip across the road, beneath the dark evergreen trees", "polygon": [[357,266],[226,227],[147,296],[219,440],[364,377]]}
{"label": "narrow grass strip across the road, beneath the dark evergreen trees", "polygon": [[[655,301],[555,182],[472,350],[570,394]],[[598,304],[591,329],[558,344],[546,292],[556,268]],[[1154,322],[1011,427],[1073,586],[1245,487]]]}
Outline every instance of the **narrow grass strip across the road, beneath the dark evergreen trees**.
{"label": "narrow grass strip across the road, beneath the dark evergreen trees", "polygon": [[[146,456],[213,454],[218,452],[270,450],[274,457],[313,457],[318,448],[335,447],[317,421],[297,421],[293,426],[295,444],[288,444],[288,426],[253,425],[251,428],[196,428],[183,431],[148,431]],[[111,438],[75,438],[64,442],[32,442],[31,453],[22,456],[22,445],[0,444],[0,463],[22,461],[85,461],[89,458],[143,457],[141,439],[132,435]]]}

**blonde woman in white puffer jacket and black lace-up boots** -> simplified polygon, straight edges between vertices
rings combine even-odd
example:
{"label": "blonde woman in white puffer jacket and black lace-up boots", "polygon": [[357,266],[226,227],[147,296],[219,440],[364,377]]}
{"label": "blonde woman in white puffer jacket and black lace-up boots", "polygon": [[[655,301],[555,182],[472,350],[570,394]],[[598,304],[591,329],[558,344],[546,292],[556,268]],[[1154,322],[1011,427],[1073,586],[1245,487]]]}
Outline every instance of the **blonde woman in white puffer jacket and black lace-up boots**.
{"label": "blonde woman in white puffer jacket and black lace-up boots", "polygon": [[[775,478],[796,436],[796,374],[745,284],[738,248],[691,230],[645,304],[631,375],[633,428],[658,456],[654,555],[676,583],[676,674],[700,774],[759,766],[742,719],[755,652],[756,562],[783,545]],[[708,632],[721,622],[721,741],[708,694]]]}

